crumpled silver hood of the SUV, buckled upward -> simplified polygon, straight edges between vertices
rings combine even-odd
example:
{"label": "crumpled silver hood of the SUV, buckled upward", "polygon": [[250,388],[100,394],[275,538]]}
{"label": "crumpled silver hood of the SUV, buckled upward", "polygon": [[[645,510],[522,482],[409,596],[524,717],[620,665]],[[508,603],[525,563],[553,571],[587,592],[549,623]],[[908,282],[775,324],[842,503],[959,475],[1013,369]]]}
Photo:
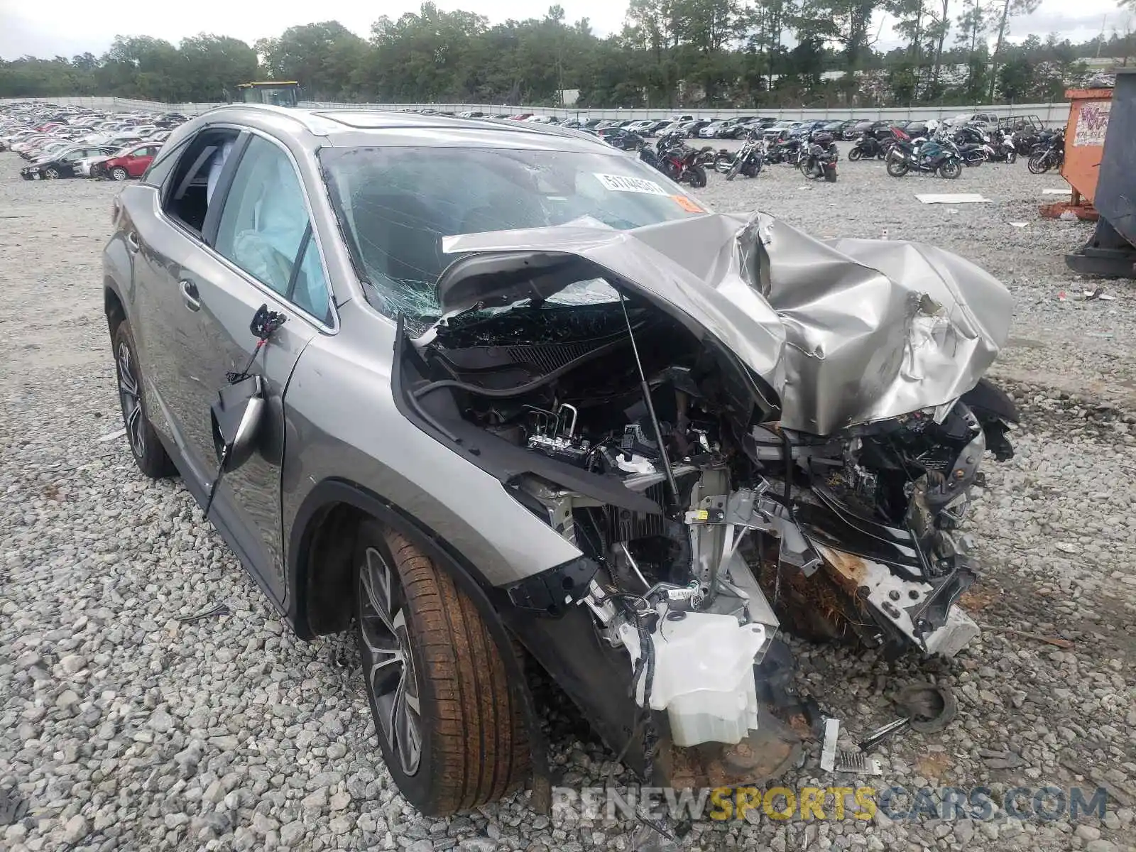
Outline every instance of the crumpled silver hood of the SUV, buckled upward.
{"label": "crumpled silver hood of the SUV, buckled upward", "polygon": [[[633,231],[461,234],[443,249],[591,260],[713,335],[777,391],[786,428],[817,435],[962,395],[1005,343],[1012,312],[1009,291],[957,254],[903,241],[821,241],[766,214]],[[446,314],[532,294],[531,284],[495,285],[492,276],[468,286],[466,266],[438,279]]]}

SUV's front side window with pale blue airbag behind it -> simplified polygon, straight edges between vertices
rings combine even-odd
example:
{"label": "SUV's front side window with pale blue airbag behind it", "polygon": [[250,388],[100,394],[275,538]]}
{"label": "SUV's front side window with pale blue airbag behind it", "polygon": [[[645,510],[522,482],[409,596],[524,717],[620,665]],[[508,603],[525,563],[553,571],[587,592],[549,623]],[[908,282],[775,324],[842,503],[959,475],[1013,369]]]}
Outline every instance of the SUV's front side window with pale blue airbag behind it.
{"label": "SUV's front side window with pale blue airbag behind it", "polygon": [[249,275],[319,319],[328,291],[311,237],[300,178],[287,154],[253,136],[237,164],[214,248]]}

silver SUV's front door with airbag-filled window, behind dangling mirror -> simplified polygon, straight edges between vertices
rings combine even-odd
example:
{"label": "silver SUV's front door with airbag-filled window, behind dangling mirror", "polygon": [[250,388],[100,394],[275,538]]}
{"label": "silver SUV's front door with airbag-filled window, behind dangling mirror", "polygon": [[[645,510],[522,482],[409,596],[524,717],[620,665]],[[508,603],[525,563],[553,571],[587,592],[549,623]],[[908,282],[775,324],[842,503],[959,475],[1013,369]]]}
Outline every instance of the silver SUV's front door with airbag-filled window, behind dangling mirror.
{"label": "silver SUV's front door with airbag-filled window, behind dangling mirror", "polygon": [[[323,256],[312,234],[306,190],[289,150],[252,134],[216,182],[202,236],[206,250],[182,266],[185,348],[195,381],[184,385],[184,434],[212,471],[219,444],[210,406],[226,374],[243,370],[257,339],[249,329],[267,304],[286,317],[250,371],[265,379],[267,415],[258,452],[225,475],[210,517],[223,524],[256,567],[262,586],[284,600],[281,467],[286,440],[283,395],[308,342],[335,331]],[[192,329],[192,333],[191,333]]]}

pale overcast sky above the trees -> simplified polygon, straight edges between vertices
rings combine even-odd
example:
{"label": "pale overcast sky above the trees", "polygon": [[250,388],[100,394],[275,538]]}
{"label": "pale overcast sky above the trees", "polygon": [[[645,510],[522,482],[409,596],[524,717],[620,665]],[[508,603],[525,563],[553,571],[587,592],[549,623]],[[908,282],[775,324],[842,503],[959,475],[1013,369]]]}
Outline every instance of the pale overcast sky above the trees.
{"label": "pale overcast sky above the trees", "polygon": [[[537,15],[544,0],[518,5],[506,0],[436,0],[443,9],[466,9],[485,15],[491,23],[509,17]],[[549,0],[551,3],[552,0]],[[626,2],[616,0],[560,0],[568,20],[586,17],[600,35],[618,32],[623,26]],[[955,1],[952,6],[958,6]],[[258,8],[259,7],[259,8]],[[314,16],[334,19],[367,37],[371,22],[385,12],[398,17],[417,11],[419,0],[387,0],[382,5],[358,0],[274,0],[266,6],[233,0],[157,0],[106,6],[89,0],[0,0],[0,57],[15,59],[24,55],[51,57],[73,56],[84,51],[101,55],[115,35],[153,35],[177,44],[186,35],[209,32],[232,35],[252,44],[257,39],[278,35],[294,24],[309,24]],[[117,14],[122,11],[123,14]],[[1106,30],[1125,30],[1130,16],[1117,10],[1116,0],[1042,0],[1038,10],[1013,22],[1012,39],[1019,41],[1030,33],[1045,36],[1058,33],[1071,41],[1085,41]],[[1136,28],[1136,27],[1134,27]],[[886,22],[878,47],[895,47],[897,40]]]}

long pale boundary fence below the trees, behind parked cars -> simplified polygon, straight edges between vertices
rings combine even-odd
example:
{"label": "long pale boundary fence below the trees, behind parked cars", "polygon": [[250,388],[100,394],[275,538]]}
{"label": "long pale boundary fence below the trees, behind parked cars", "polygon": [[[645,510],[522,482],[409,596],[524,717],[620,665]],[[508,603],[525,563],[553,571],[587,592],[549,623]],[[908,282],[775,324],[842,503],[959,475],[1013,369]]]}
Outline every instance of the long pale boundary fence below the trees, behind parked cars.
{"label": "long pale boundary fence below the trees, behind parked cars", "polygon": [[[130,98],[6,98],[0,102],[41,100],[61,106],[82,106],[92,109],[107,109],[125,112],[130,110],[149,110],[162,112],[181,112],[185,116],[197,116],[222,106],[219,103],[158,103],[156,101],[137,101]],[[475,111],[486,115],[517,115],[534,112],[536,115],[559,117],[590,118],[655,118],[668,115],[693,115],[695,117],[728,118],[730,116],[771,116],[776,118],[800,118],[803,120],[820,118],[950,118],[960,114],[993,112],[999,116],[1035,115],[1046,125],[1064,125],[1069,119],[1068,103],[1014,103],[972,107],[911,107],[892,109],[693,109],[675,107],[671,109],[584,109],[554,107],[510,107],[502,103],[334,103],[326,101],[304,101],[300,106],[320,109],[342,110],[402,110],[402,109],[436,109],[448,112]]]}

